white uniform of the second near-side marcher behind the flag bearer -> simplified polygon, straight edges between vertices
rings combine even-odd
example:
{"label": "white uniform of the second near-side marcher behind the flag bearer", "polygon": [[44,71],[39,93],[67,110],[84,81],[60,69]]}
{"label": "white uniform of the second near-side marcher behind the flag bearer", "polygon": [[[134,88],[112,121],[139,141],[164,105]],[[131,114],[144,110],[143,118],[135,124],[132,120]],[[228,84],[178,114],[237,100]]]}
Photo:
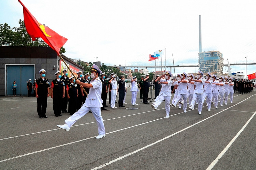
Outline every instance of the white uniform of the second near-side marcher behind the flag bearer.
{"label": "white uniform of the second near-side marcher behind the flag bearer", "polygon": [[[183,81],[188,82],[186,79],[184,79]],[[176,105],[176,103],[183,97],[183,111],[185,111],[187,109],[187,84],[188,83],[179,83],[179,91],[178,91],[178,95],[176,97],[176,99],[174,100],[173,104]]]}

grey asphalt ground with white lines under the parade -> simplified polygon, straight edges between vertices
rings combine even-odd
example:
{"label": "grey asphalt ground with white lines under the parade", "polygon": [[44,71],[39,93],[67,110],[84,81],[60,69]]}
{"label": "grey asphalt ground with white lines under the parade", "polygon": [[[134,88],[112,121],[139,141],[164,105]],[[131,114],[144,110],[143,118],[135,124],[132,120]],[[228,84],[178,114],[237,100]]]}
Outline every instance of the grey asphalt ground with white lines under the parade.
{"label": "grey asphalt ground with white lines under the parade", "polygon": [[204,103],[202,115],[171,107],[168,119],[165,102],[154,111],[139,92],[139,105],[130,101],[128,88],[126,107],[106,107],[106,137],[95,139],[92,113],[67,132],[56,125],[70,115],[55,117],[50,97],[42,119],[36,98],[1,97],[0,169],[256,169],[255,88],[210,112]]}

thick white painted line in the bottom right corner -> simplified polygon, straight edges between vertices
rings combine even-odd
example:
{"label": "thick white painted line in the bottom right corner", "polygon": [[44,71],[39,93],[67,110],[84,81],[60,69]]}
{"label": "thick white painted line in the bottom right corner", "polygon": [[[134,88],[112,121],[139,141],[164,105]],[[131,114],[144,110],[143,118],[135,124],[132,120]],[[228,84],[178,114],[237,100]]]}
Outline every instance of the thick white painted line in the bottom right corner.
{"label": "thick white painted line in the bottom right corner", "polygon": [[233,144],[233,142],[237,139],[237,137],[243,132],[243,130],[246,128],[248,123],[252,120],[252,118],[255,116],[256,112],[251,116],[251,118],[244,124],[243,128],[234,136],[234,138],[228,143],[228,145],[223,149],[223,151],[216,157],[216,159],[213,160],[213,162],[209,165],[209,167],[206,170],[211,170],[219,161],[219,159],[222,158],[222,156],[227,152],[229,147]]}

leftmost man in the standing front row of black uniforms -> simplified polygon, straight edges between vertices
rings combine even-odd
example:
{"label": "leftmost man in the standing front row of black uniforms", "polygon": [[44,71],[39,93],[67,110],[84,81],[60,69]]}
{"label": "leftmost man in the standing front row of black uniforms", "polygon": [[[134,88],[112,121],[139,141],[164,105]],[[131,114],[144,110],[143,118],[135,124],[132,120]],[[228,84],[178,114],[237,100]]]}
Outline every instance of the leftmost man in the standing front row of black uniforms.
{"label": "leftmost man in the standing front row of black uniforms", "polygon": [[39,71],[41,77],[37,79],[35,83],[35,97],[37,98],[37,113],[39,118],[47,118],[46,108],[47,108],[47,97],[49,97],[49,80],[45,78],[45,70],[41,69]]}

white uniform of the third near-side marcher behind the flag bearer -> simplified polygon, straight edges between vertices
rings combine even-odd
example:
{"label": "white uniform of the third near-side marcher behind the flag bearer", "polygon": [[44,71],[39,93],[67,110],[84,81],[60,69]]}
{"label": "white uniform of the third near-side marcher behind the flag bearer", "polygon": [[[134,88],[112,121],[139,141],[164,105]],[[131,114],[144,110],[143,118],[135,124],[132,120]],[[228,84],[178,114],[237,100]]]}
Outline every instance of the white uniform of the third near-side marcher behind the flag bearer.
{"label": "white uniform of the third near-side marcher behind the flag bearer", "polygon": [[203,85],[204,85],[204,79],[199,79],[202,82],[194,82],[194,85],[196,85],[196,88],[194,90],[193,99],[191,101],[191,106],[194,107],[196,98],[198,98],[198,112],[202,112],[203,108]]}

